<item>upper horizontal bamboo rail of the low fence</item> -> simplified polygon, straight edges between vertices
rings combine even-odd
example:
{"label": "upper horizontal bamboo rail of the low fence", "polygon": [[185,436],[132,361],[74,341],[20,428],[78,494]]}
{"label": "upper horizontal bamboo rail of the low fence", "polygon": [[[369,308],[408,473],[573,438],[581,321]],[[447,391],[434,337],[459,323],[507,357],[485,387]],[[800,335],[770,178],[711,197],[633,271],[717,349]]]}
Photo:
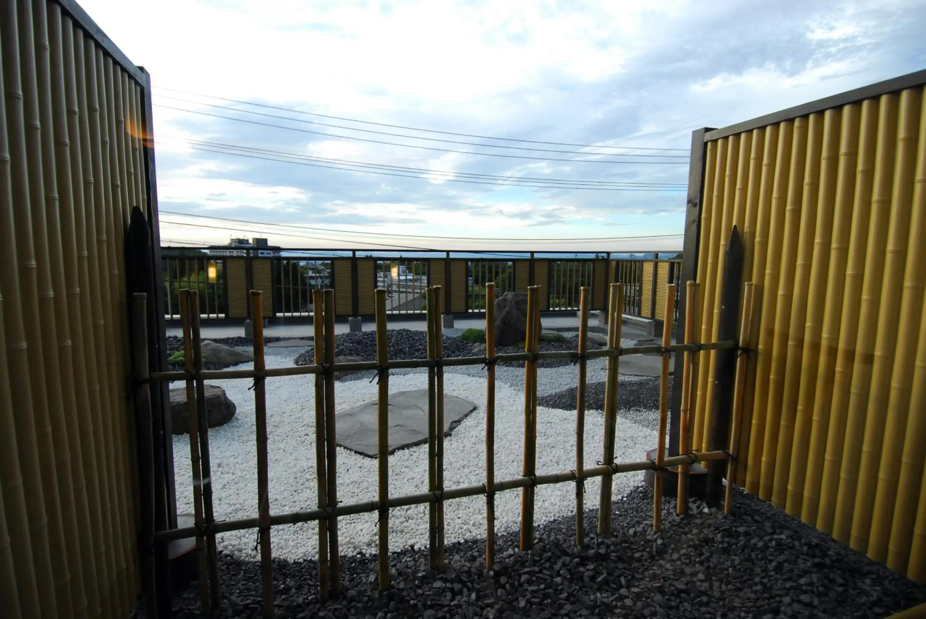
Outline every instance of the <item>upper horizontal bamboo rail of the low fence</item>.
{"label": "upper horizontal bamboo rail of the low fence", "polygon": [[[722,351],[730,348],[736,348],[735,340],[713,341],[703,344],[672,344],[668,346],[673,353],[689,352],[697,353],[698,351]],[[605,359],[607,357],[621,356],[625,354],[651,354],[662,353],[661,346],[628,346],[624,348],[606,348],[597,351],[585,353],[587,359]],[[498,363],[511,361],[530,361],[533,359],[532,353],[507,353],[497,354],[495,359]],[[544,361],[548,359],[570,359],[579,360],[579,355],[575,351],[548,351],[537,353],[537,360]],[[390,361],[386,365],[377,365],[375,361],[358,361],[343,364],[327,365],[329,372],[362,372],[364,370],[376,370],[382,367],[383,370],[409,369],[414,367],[436,367],[438,364],[444,367],[458,367],[460,365],[482,365],[485,363],[485,357],[445,357],[438,362],[436,359],[399,359]],[[264,370],[262,376],[267,378],[292,377],[304,374],[324,374],[325,364],[315,365],[294,365],[291,367],[268,367]],[[194,372],[194,376],[203,380],[217,378],[255,378],[257,373],[254,370],[201,370]],[[190,378],[184,371],[176,372],[152,372],[151,380],[173,381],[186,380]]]}

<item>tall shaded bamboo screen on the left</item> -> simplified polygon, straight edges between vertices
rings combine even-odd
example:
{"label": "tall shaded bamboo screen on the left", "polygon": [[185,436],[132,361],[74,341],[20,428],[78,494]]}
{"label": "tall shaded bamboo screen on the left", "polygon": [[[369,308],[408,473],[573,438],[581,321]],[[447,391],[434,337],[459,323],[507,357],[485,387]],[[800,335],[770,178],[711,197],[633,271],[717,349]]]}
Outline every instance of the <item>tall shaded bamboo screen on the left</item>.
{"label": "tall shaded bamboo screen on the left", "polygon": [[0,614],[128,616],[138,588],[123,236],[142,75],[55,2],[0,3]]}

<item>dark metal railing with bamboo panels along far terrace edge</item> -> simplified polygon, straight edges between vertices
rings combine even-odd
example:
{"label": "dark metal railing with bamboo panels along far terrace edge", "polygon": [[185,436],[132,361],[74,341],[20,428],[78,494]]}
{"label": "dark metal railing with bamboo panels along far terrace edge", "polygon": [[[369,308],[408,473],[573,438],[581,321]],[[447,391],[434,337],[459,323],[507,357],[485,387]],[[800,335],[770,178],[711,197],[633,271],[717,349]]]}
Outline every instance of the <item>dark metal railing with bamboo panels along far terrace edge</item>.
{"label": "dark metal railing with bamboo panels along far terrace edge", "polygon": [[591,288],[594,299],[602,299],[605,291],[601,287],[619,282],[626,291],[624,315],[662,319],[656,300],[667,284],[679,284],[682,275],[681,260],[662,260],[655,253],[652,258],[564,252],[497,258],[491,253],[482,257],[478,252],[421,252],[410,257],[276,247],[217,247],[212,249],[214,253],[166,247],[162,252],[165,317],[171,320],[180,318],[179,293],[183,289],[199,292],[203,319],[249,317],[249,290],[267,292],[265,316],[311,318],[315,314],[312,292],[330,288],[339,298],[351,299],[346,305],[349,310],[339,303],[339,316],[347,311],[352,316],[370,316],[377,288],[386,291],[386,313],[390,316],[424,316],[427,289],[441,282],[448,295],[444,306],[454,314],[484,312],[485,285],[489,282],[494,283],[499,296],[540,285],[544,311],[564,312],[579,309],[582,287]]}

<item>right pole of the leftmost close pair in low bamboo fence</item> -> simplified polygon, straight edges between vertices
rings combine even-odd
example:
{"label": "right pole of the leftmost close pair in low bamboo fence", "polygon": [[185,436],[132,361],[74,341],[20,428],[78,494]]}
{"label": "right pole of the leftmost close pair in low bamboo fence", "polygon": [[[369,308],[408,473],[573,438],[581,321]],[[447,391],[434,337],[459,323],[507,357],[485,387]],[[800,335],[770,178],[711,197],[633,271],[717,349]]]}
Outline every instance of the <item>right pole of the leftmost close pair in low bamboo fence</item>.
{"label": "right pole of the leftmost close pair in low bamboo fence", "polygon": [[[212,468],[209,463],[209,424],[206,416],[206,386],[201,378],[203,371],[202,337],[199,330],[199,292],[190,291],[190,333],[193,344],[194,385],[196,388],[196,423],[199,434],[199,457],[203,484],[203,515],[206,527],[216,523],[212,506]],[[219,608],[219,553],[216,534],[206,535],[206,567],[209,570],[209,600],[213,609]]]}

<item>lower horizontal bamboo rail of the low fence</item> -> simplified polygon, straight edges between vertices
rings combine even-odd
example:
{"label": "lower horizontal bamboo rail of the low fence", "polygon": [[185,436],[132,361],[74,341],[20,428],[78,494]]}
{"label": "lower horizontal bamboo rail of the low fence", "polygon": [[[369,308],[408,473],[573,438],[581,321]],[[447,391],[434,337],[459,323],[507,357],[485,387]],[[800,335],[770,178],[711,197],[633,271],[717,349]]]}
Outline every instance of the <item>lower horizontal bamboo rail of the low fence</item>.
{"label": "lower horizontal bamboo rail of the low fence", "polygon": [[[677,466],[679,464],[695,464],[708,461],[723,461],[727,459],[727,452],[719,450],[716,452],[692,452],[682,455],[672,456],[663,461],[666,467]],[[656,469],[656,462],[652,460],[641,460],[638,462],[618,463],[618,464],[600,464],[592,468],[586,468],[582,471],[582,478],[602,477],[605,475],[618,475],[619,473],[631,473],[633,471],[649,471]],[[575,471],[561,471],[559,473],[549,473],[535,477],[514,477],[502,481],[496,481],[492,492],[504,492],[505,490],[528,488],[532,485],[546,486],[549,484],[558,484],[566,481],[575,482],[577,476]],[[475,484],[473,486],[461,486],[459,488],[444,489],[443,492],[421,492],[419,494],[410,494],[404,497],[390,497],[388,502],[389,509],[396,507],[407,507],[409,505],[422,505],[424,503],[433,503],[437,501],[451,501],[453,499],[462,499],[464,497],[475,497],[485,494],[485,484]],[[440,496],[438,496],[440,495]],[[270,516],[269,526],[280,525],[297,525],[304,522],[315,522],[327,518],[337,518],[354,514],[371,514],[378,512],[380,501],[362,501],[358,503],[349,503],[338,505],[329,509],[315,509],[304,512],[292,512],[290,514],[274,514]],[[217,535],[229,531],[241,531],[246,528],[257,528],[259,525],[258,518],[242,518],[239,520],[223,520],[205,526],[203,531],[206,535]],[[155,542],[164,543],[174,539],[192,538],[197,534],[195,526],[185,526],[182,528],[169,529],[167,531],[157,531],[155,533]]]}

